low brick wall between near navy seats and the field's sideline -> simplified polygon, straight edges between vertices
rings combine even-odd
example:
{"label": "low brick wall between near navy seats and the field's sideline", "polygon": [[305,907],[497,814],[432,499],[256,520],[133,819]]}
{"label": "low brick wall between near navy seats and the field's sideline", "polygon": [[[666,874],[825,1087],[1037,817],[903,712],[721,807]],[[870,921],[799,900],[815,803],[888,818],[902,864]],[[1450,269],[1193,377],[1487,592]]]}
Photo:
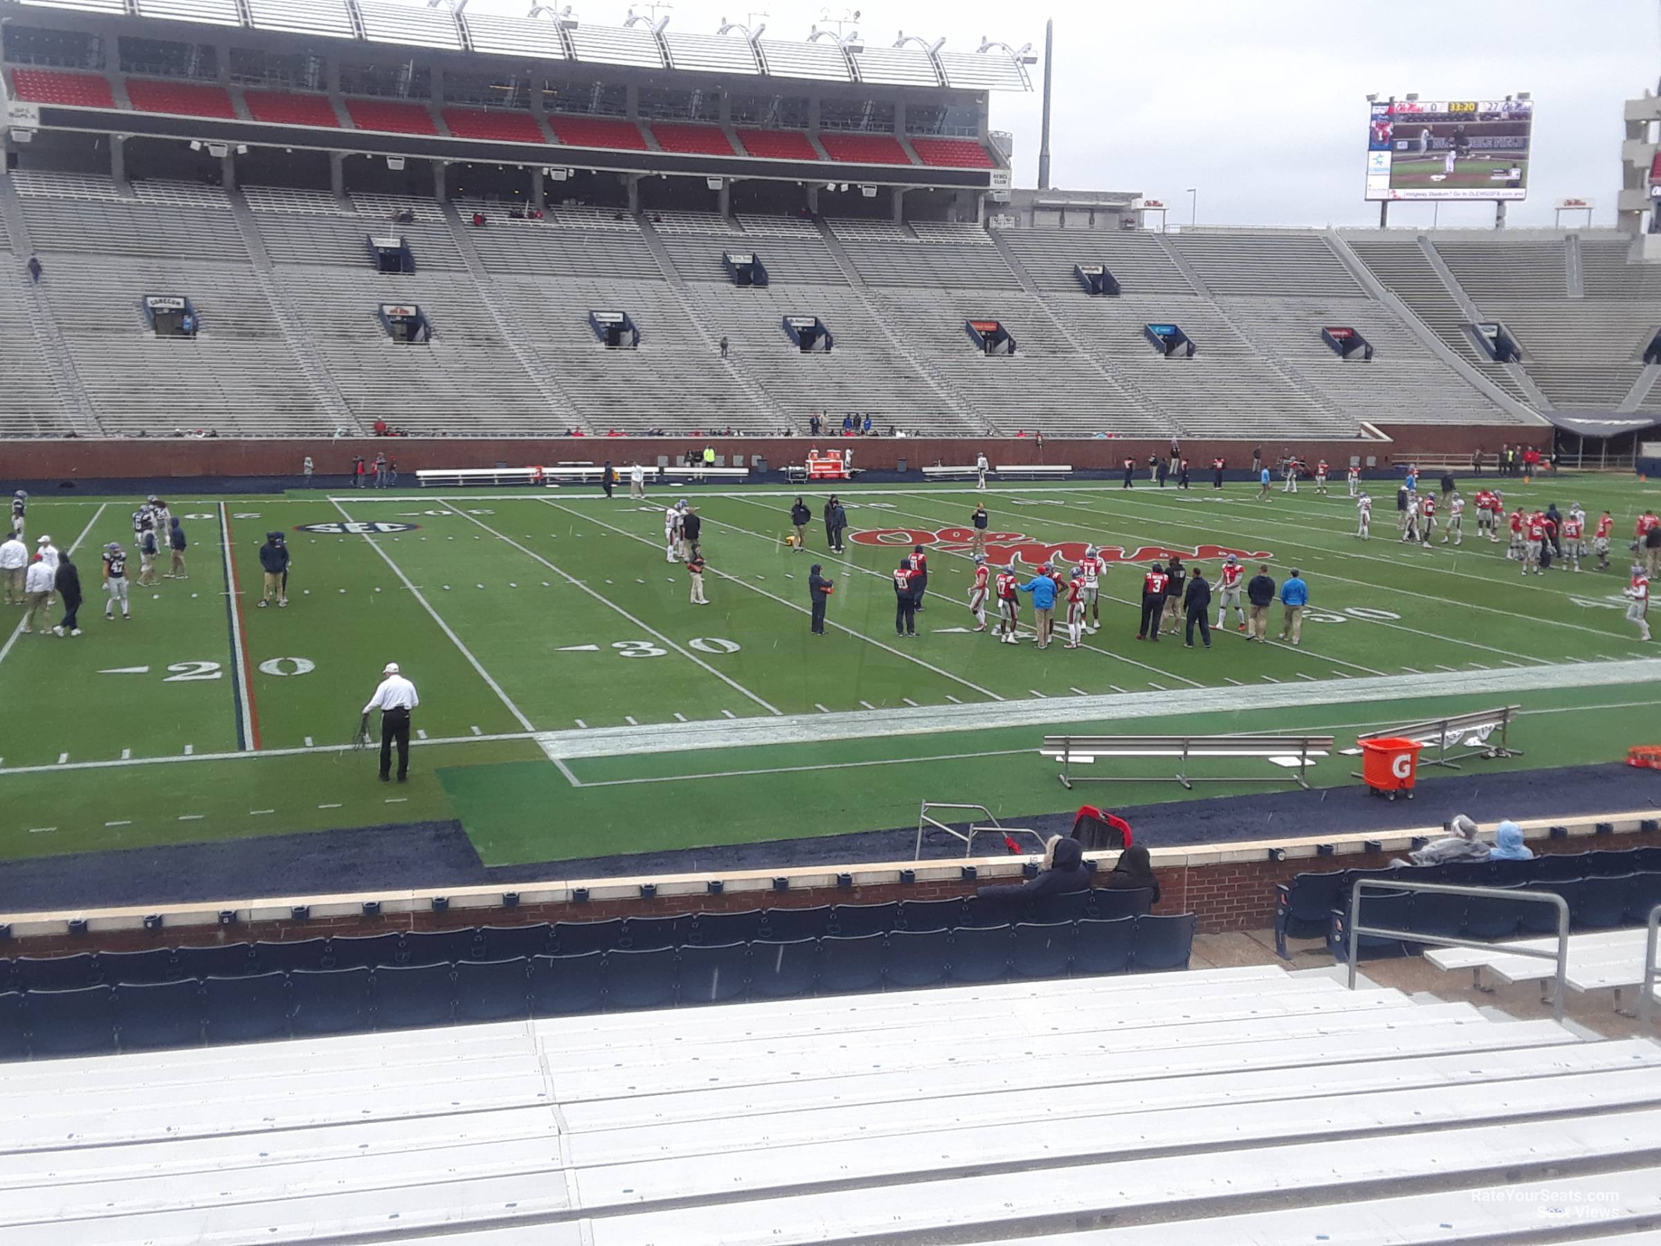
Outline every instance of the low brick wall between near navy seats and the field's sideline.
{"label": "low brick wall between near navy seats and the field's sideline", "polygon": [[[1576,836],[1571,839],[1535,839],[1536,854],[1585,852],[1588,849],[1629,849],[1661,846],[1661,831],[1638,831],[1619,836]],[[1226,846],[1224,846],[1226,847]],[[1389,864],[1395,852],[1350,852],[1340,857],[1296,857],[1291,861],[1234,861],[1204,866],[1168,866],[1156,869],[1159,904],[1154,912],[1199,914],[1199,929],[1264,930],[1274,924],[1276,884],[1296,874],[1332,869],[1375,869]],[[370,935],[389,930],[448,930],[468,925],[520,925],[535,922],[601,920],[610,917],[649,917],[689,910],[737,912],[761,907],[812,907],[817,904],[887,904],[889,900],[940,900],[973,894],[983,881],[930,881],[915,884],[882,884],[865,887],[796,887],[776,890],[739,890],[719,895],[656,895],[651,899],[606,899],[586,904],[522,904],[505,907],[468,907],[448,912],[385,914],[377,917],[317,917],[309,920],[246,922],[219,927],[163,927],[161,930],[110,930],[88,935],[45,935],[0,944],[0,954],[55,955],[60,952],[120,950],[149,947],[234,944],[243,940],[317,939],[322,935]]]}

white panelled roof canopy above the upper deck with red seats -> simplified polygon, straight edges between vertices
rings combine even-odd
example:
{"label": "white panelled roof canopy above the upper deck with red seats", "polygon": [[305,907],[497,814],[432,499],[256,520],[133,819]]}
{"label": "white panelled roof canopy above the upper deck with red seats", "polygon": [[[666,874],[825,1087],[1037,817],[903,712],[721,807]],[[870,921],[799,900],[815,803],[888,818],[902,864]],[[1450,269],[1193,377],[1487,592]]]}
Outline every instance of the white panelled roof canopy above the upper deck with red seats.
{"label": "white panelled roof canopy above the upper deck with red seats", "polygon": [[751,33],[737,25],[724,27],[726,33],[671,30],[666,20],[606,27],[561,18],[543,5],[532,10],[537,17],[515,18],[468,13],[465,7],[419,7],[394,0],[10,0],[0,8],[12,3],[643,70],[968,91],[1031,90],[1026,75],[1030,56],[1002,43],[987,43],[977,52],[947,52],[940,43],[917,47],[917,38],[905,40],[904,47],[867,47],[835,38],[762,38],[762,30]]}

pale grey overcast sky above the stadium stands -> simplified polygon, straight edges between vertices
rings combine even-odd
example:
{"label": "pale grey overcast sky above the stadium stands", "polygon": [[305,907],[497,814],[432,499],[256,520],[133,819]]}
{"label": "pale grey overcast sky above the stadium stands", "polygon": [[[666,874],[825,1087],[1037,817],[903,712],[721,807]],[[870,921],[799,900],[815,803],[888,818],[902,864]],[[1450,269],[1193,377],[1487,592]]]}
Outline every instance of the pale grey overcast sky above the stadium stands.
{"label": "pale grey overcast sky above the stadium stands", "polygon": [[[565,0],[560,0],[565,3]],[[621,25],[630,0],[573,0],[580,20]],[[472,0],[523,13],[518,0]],[[821,5],[781,0],[678,0],[659,8],[678,30],[714,32],[723,17],[766,10],[767,35],[806,38]],[[1551,224],[1551,201],[1595,196],[1598,224],[1614,223],[1621,101],[1656,85],[1661,37],[1654,0],[1399,0],[1384,7],[1317,0],[1100,3],[1058,0],[854,0],[867,43],[897,32],[973,52],[980,37],[1041,52],[1055,17],[1051,183],[1066,189],[1143,191],[1188,221],[1213,224],[1370,224],[1362,201],[1365,95],[1418,91],[1425,100],[1535,95],[1526,203],[1512,224]],[[644,12],[644,10],[643,10]],[[1015,181],[1036,184],[1038,88],[992,96],[992,123],[1015,133]],[[1176,211],[1179,208],[1179,211]],[[1430,204],[1394,204],[1392,224],[1428,224]],[[1440,224],[1488,224],[1492,204],[1443,204]]]}

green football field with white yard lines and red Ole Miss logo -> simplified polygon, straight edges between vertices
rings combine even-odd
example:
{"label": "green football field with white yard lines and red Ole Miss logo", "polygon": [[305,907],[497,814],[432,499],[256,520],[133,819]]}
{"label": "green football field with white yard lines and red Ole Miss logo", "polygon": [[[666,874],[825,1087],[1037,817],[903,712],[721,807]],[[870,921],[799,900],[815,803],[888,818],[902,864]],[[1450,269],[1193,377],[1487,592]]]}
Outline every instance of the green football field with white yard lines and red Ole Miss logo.
{"label": "green football field with white yard lines and red Ole Miss logo", "polygon": [[[1580,575],[1526,578],[1475,528],[1462,548],[1400,545],[1394,483],[1370,490],[1364,543],[1342,483],[1330,497],[1277,485],[1267,503],[1244,483],[852,487],[842,555],[826,548],[817,487],[802,490],[816,515],[804,553],[782,540],[797,492],[769,487],[656,488],[644,505],[626,488],[179,492],[189,580],[135,588],[125,623],[103,618],[98,552],[131,548],[135,503],[37,500],[30,542],[50,532],[75,547],[85,635],[20,635],[22,611],[7,620],[0,856],[458,819],[485,864],[512,866],[915,824],[924,797],[1023,816],[1080,802],[1035,753],[1058,726],[1322,729],[1344,748],[1392,721],[1520,703],[1512,743],[1526,756],[1478,763],[1492,769],[1611,761],[1661,739],[1661,653],[1639,643],[1621,596],[1633,520],[1661,490],[1505,482],[1513,505],[1580,500],[1593,520],[1605,507],[1616,518],[1610,571],[1588,560]],[[708,606],[664,557],[676,497],[704,518]],[[1083,648],[970,631],[977,497],[993,560],[1020,560],[1023,581],[1085,543],[1121,560]],[[294,557],[287,608],[256,605],[271,530]],[[928,596],[920,635],[904,640],[889,573],[917,542]],[[1259,562],[1277,581],[1302,570],[1301,646],[1247,643],[1232,621],[1211,650],[1136,640],[1141,563],[1181,552],[1216,581],[1231,550],[1247,576]],[[822,638],[809,633],[816,562],[835,580]],[[422,698],[402,786],[347,748],[387,661]],[[1325,759],[1314,781],[1350,782],[1352,768]],[[1149,779],[1103,799],[1183,796]]]}

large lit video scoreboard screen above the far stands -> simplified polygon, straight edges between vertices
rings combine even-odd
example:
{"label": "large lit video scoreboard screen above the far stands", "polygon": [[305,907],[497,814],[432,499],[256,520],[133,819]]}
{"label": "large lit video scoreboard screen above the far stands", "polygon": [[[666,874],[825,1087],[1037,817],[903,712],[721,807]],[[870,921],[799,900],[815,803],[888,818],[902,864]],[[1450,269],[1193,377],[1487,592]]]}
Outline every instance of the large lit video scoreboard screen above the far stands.
{"label": "large lit video scoreboard screen above the far stands", "polygon": [[1374,101],[1367,198],[1525,199],[1533,121],[1533,100]]}

